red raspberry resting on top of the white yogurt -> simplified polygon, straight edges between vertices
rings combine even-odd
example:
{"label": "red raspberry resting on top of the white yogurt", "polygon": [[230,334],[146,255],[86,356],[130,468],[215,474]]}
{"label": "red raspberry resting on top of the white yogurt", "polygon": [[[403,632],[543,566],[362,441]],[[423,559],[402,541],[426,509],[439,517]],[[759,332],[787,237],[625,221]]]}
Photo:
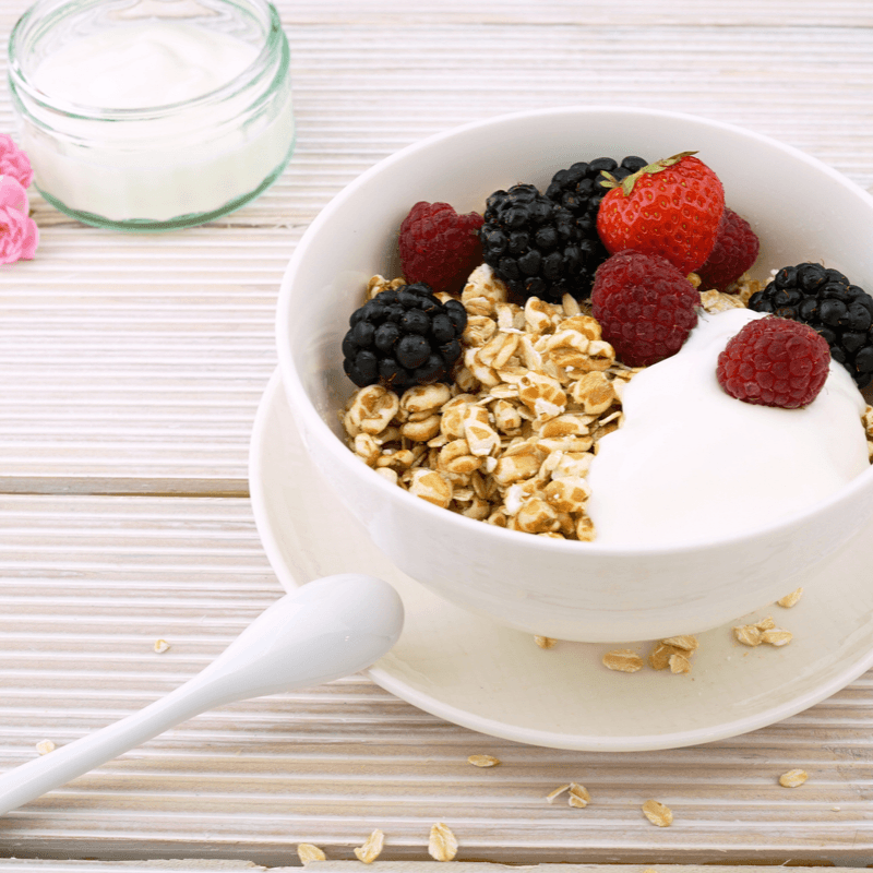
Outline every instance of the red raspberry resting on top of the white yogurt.
{"label": "red raspberry resting on top of the white yogurt", "polygon": [[768,315],[746,324],[718,356],[716,375],[731,397],[797,409],[827,379],[830,348],[808,324]]}

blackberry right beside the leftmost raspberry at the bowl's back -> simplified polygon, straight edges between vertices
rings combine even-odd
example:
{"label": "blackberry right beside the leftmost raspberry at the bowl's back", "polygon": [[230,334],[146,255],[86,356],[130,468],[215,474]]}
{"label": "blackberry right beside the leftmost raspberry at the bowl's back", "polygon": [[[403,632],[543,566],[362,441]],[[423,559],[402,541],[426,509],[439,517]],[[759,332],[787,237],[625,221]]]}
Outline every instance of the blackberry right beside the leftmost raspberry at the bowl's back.
{"label": "blackberry right beside the leftmost raspberry at the bowl's back", "polygon": [[584,270],[594,247],[584,240],[570,210],[533,184],[495,191],[486,201],[479,230],[482,256],[521,297],[560,301],[564,294],[587,296]]}

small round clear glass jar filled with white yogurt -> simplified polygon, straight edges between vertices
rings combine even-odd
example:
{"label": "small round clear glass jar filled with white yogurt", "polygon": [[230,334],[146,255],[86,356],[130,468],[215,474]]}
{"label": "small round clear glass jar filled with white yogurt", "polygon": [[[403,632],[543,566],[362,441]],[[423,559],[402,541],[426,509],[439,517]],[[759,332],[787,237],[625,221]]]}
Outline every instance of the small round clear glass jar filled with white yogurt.
{"label": "small round clear glass jar filled with white yogurt", "polygon": [[39,192],[74,218],[199,225],[287,165],[289,65],[267,0],[38,0],[9,41],[15,139]]}

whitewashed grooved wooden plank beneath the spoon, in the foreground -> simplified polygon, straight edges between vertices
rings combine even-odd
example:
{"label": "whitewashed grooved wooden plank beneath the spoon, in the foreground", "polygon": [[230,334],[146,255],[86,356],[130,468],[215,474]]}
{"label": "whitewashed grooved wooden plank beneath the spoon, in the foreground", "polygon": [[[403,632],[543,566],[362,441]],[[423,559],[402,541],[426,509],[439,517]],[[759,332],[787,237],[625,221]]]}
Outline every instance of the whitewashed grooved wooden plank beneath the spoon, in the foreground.
{"label": "whitewashed grooved wooden plank beneath the spoon, in the foreground", "polygon": [[[0,769],[168,693],[279,595],[244,500],[0,499]],[[569,781],[587,809],[546,802]],[[650,797],[673,826],[643,817]],[[746,737],[621,755],[478,734],[357,675],[193,718],[0,818],[0,853],[276,865],[310,841],[349,861],[379,827],[383,860],[424,861],[444,821],[459,860],[858,864],[871,801],[873,673]]]}

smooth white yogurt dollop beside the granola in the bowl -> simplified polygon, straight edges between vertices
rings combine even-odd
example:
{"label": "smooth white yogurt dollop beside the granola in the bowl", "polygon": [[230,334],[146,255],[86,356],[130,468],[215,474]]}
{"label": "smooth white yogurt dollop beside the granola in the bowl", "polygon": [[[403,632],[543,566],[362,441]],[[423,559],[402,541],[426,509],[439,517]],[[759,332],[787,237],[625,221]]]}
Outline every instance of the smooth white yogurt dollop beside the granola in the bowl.
{"label": "smooth white yogurt dollop beside the granola in the bowl", "polygon": [[870,464],[865,404],[835,361],[802,409],[755,406],[718,384],[716,363],[746,309],[702,313],[685,345],[627,385],[622,427],[588,473],[597,542],[679,546],[746,533],[833,494]]}

